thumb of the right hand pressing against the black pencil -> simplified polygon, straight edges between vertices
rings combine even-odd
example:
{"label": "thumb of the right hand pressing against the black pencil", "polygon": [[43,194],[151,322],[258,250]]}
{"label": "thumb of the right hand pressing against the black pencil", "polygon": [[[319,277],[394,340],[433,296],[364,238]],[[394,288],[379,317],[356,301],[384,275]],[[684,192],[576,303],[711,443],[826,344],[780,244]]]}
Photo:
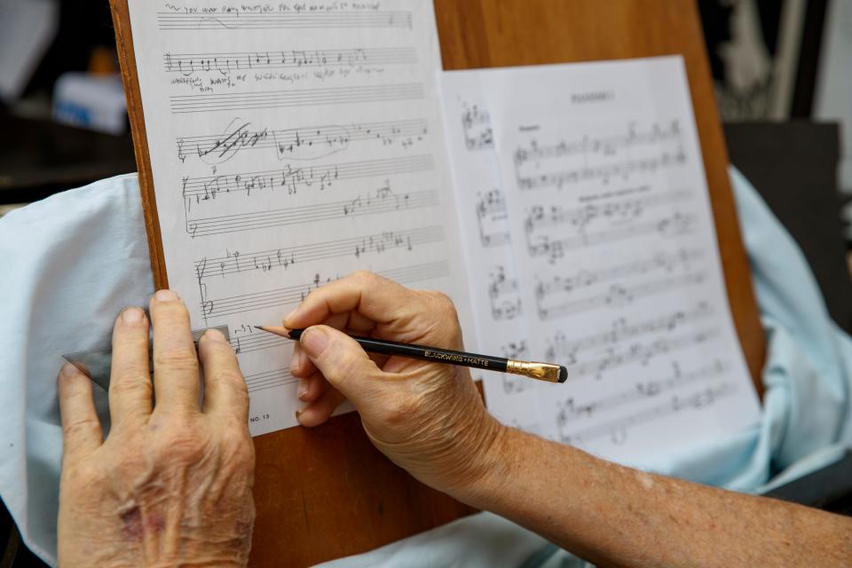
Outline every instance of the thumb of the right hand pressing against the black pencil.
{"label": "thumb of the right hand pressing against the black pencil", "polygon": [[382,371],[349,335],[334,327],[312,326],[299,339],[305,354],[335,389],[355,406],[369,398]]}

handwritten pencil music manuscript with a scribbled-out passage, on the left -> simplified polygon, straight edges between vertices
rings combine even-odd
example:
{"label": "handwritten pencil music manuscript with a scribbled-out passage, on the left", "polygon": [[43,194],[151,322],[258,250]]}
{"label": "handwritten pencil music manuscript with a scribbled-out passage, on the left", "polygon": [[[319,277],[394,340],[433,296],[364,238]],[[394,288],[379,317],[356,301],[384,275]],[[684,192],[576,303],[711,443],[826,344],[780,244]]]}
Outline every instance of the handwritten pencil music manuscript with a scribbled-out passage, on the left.
{"label": "handwritten pencil music manuscript with a scribbled-out passage, on the left", "polygon": [[170,287],[230,327],[252,434],[296,425],[254,325],[358,269],[466,304],[431,3],[129,4]]}

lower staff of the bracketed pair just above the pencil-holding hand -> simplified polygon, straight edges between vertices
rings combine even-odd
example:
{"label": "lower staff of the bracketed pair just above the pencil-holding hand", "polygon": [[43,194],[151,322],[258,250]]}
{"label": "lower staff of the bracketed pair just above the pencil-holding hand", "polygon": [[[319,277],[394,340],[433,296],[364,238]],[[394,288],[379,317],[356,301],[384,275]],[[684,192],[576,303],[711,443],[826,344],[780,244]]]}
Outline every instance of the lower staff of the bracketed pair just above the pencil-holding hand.
{"label": "lower staff of the bracketed pair just above the pencil-holding hand", "polygon": [[[445,277],[449,274],[449,265],[446,261],[438,261],[434,263],[400,266],[378,273],[389,280],[396,280],[401,284],[406,284],[408,282],[421,282]],[[209,319],[224,318],[233,314],[297,304],[304,300],[304,297],[310,294],[312,290],[339,277],[340,275],[335,275],[334,278],[322,278],[318,273],[314,277],[314,280],[309,283],[249,292],[237,296],[212,299],[202,298],[200,303],[202,316],[204,321],[208,322]]]}

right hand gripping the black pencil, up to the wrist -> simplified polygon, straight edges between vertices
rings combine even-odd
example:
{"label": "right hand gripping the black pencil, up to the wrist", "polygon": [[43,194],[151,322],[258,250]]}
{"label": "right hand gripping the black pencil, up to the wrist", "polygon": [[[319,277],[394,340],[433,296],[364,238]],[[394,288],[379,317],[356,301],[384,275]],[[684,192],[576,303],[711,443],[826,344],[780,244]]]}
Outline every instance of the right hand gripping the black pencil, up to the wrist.
{"label": "right hand gripping the black pencil, up to the wrist", "polygon": [[327,421],[349,398],[383,454],[460,499],[491,468],[501,426],[485,410],[466,367],[367,355],[345,335],[461,350],[461,328],[447,296],[355,272],[314,290],[283,323],[307,328],[290,366],[299,378],[299,399],[307,403],[297,414],[302,425]]}

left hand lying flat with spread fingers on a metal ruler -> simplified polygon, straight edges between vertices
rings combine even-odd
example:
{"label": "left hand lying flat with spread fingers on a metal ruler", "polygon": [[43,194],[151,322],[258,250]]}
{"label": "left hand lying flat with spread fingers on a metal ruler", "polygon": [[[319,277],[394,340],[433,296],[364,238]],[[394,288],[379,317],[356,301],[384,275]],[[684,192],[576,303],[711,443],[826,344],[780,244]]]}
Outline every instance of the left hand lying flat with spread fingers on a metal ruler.
{"label": "left hand lying flat with spread fingers on a metal ruler", "polygon": [[89,378],[70,365],[59,375],[59,564],[244,565],[254,446],[237,359],[212,330],[196,358],[189,315],[170,290],[154,296],[150,313],[153,385],[145,313],[128,308],[115,321],[106,440]]}

